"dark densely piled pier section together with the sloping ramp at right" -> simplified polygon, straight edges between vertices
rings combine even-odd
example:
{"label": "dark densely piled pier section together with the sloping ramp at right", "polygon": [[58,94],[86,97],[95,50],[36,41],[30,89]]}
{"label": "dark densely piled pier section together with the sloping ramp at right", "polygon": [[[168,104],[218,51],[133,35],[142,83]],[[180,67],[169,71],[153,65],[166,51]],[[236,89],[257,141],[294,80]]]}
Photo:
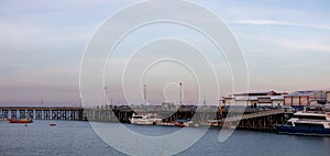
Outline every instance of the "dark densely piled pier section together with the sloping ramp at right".
{"label": "dark densely piled pier section together with the sloping ramp at right", "polygon": [[[135,108],[136,109],[136,108]],[[105,105],[94,109],[85,109],[88,121],[101,122],[121,122],[130,123],[129,119],[133,113],[156,113],[162,116],[162,125],[173,125],[176,120],[191,120],[199,125],[211,125],[222,127],[227,123],[239,122],[238,129],[273,131],[275,124],[285,124],[292,118],[293,112],[286,109],[260,110],[246,108],[244,114],[238,118],[228,116],[229,108],[219,109],[212,105],[202,105],[197,110],[196,105],[176,105],[174,108],[164,108],[162,105],[144,105],[136,111],[129,105]],[[211,124],[210,121],[218,121],[219,124]]]}

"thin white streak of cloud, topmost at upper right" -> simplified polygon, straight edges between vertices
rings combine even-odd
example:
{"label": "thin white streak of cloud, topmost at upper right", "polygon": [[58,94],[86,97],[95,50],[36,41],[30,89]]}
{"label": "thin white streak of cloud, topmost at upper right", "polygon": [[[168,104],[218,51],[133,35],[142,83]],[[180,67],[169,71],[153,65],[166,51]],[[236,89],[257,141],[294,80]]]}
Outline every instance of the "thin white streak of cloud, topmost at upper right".
{"label": "thin white streak of cloud, topmost at upper right", "polygon": [[279,26],[298,26],[309,29],[329,30],[330,25],[324,24],[305,24],[298,22],[276,21],[276,20],[237,20],[231,21],[233,24],[248,24],[248,25],[279,25]]}

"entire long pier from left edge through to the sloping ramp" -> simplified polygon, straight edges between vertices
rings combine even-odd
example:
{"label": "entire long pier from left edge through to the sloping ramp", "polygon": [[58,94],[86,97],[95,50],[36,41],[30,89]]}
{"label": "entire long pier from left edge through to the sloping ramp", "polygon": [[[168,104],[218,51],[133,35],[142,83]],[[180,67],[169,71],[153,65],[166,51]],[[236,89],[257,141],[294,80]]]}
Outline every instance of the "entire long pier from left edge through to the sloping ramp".
{"label": "entire long pier from left edge through to the sloping ramp", "polygon": [[[142,105],[139,109],[129,105],[98,105],[95,108],[82,107],[0,107],[2,119],[33,120],[73,120],[130,123],[133,113],[154,113],[163,119],[163,125],[173,125],[176,120],[191,120],[199,125],[222,127],[224,123],[238,123],[238,129],[243,130],[274,130],[275,124],[284,124],[292,118],[293,112],[285,109],[258,110],[246,108],[239,118],[228,116],[229,108],[215,105],[176,105],[166,108],[162,105]],[[211,124],[217,121],[218,124]]]}

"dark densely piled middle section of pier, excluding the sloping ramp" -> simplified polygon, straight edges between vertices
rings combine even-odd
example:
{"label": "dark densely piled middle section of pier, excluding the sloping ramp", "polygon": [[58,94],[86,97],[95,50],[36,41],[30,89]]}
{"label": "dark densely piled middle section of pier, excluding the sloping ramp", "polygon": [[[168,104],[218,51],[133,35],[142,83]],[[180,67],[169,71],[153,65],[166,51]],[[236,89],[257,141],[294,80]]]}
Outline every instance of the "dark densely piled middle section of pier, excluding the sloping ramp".
{"label": "dark densely piled middle section of pier, excluding the sloping ramp", "polygon": [[96,108],[85,108],[84,114],[88,121],[122,122],[130,123],[133,114],[157,114],[165,123],[173,123],[176,120],[193,119],[194,122],[205,122],[207,120],[220,119],[217,105],[202,105],[197,110],[197,105],[174,105],[164,102],[163,105],[99,105]]}

